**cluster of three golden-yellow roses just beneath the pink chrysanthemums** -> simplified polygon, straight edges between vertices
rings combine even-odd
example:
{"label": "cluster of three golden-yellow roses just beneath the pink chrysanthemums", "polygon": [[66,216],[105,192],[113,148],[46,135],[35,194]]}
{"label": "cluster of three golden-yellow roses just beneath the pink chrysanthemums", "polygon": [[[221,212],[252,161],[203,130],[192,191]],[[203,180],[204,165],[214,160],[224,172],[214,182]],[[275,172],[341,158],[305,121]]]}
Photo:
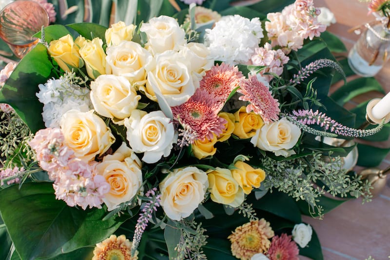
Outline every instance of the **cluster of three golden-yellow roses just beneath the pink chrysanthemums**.
{"label": "cluster of three golden-yellow roses just beneath the pink chrysanthemums", "polygon": [[218,116],[227,121],[222,134],[218,137],[214,135],[212,140],[195,140],[191,145],[192,153],[199,160],[215,154],[216,148],[214,145],[216,142],[226,141],[232,134],[239,139],[251,138],[264,124],[259,115],[256,115],[254,112],[247,113],[245,106],[242,106],[234,114],[221,112]]}

